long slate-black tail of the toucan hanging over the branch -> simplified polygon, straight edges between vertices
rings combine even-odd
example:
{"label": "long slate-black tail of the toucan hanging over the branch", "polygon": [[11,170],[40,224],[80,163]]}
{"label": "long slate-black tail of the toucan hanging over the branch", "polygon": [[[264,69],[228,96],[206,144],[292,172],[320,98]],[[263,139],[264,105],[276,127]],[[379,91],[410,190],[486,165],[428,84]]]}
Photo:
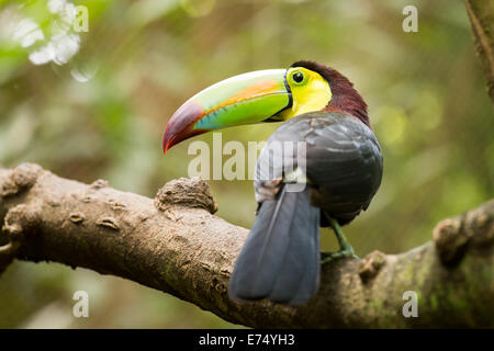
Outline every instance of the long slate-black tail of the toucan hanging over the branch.
{"label": "long slate-black tail of the toucan hanging over the branch", "polygon": [[301,304],[319,282],[319,210],[308,189],[265,201],[228,284],[234,299]]}

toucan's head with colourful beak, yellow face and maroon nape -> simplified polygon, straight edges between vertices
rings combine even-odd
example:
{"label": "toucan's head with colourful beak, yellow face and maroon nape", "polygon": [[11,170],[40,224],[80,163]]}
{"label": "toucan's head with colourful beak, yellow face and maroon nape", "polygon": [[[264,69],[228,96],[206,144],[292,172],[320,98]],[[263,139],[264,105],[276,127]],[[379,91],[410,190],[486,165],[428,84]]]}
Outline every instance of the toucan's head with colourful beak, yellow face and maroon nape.
{"label": "toucan's head with colourful beak, yellow face and maroon nape", "polygon": [[189,99],[171,116],[162,148],[194,135],[234,125],[287,121],[322,110],[343,111],[369,126],[367,104],[352,83],[333,68],[297,61],[289,69],[244,73]]}

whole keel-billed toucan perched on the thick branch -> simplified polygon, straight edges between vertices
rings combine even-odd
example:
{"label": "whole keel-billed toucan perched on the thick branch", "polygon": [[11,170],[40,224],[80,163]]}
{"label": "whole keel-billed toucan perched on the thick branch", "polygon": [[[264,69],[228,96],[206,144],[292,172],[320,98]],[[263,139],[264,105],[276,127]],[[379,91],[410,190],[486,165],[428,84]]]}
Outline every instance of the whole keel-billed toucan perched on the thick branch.
{"label": "whole keel-billed toucan perched on the thick branch", "polygon": [[[381,184],[381,148],[353,84],[310,60],[235,76],[180,106],[162,147],[166,152],[194,135],[270,122],[282,123],[257,161],[257,216],[227,291],[238,302],[300,305],[316,294],[322,263],[358,259],[341,226],[368,208]],[[292,147],[279,147],[287,144]],[[340,250],[322,254],[319,227],[327,226]]]}

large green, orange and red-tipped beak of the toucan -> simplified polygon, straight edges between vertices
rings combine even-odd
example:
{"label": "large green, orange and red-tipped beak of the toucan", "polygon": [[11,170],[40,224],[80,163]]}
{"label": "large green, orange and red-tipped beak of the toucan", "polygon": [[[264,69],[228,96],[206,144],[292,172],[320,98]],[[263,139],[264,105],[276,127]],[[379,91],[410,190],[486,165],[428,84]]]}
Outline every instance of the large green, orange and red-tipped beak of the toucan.
{"label": "large green, orange and red-tipped beak of the toucan", "polygon": [[259,70],[225,79],[189,99],[168,121],[164,152],[194,135],[234,125],[267,122],[291,106],[285,69]]}

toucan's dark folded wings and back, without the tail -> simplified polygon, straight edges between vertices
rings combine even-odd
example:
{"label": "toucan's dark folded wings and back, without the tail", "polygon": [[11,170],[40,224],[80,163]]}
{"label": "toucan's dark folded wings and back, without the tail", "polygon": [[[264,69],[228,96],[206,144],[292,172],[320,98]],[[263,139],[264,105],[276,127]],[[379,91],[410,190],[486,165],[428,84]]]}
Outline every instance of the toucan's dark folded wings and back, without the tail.
{"label": "toucan's dark folded wings and back, without the tail", "polygon": [[[279,146],[287,141],[305,141],[305,157],[295,146]],[[287,182],[296,169],[312,188],[312,203],[345,224],[366,210],[378,191],[382,155],[372,131],[356,117],[313,112],[289,120],[269,138],[256,168],[258,202],[274,195],[277,180]]]}

